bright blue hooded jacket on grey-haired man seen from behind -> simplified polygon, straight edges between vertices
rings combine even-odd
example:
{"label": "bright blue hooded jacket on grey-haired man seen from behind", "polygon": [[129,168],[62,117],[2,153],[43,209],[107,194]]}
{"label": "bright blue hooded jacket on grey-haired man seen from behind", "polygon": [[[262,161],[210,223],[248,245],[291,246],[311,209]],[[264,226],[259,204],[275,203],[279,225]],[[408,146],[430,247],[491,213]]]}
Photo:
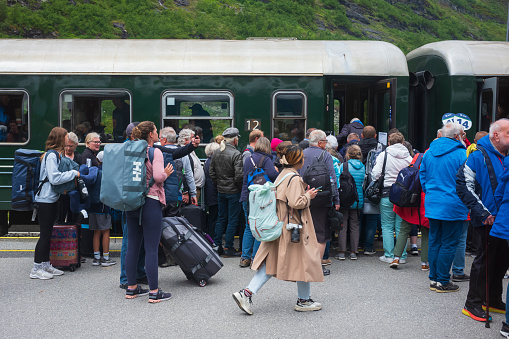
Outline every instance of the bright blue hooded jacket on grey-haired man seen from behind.
{"label": "bright blue hooded jacket on grey-haired man seen from behind", "polygon": [[461,142],[452,138],[435,139],[422,158],[419,178],[426,194],[425,216],[438,220],[467,220],[468,208],[456,193],[456,173],[467,160]]}

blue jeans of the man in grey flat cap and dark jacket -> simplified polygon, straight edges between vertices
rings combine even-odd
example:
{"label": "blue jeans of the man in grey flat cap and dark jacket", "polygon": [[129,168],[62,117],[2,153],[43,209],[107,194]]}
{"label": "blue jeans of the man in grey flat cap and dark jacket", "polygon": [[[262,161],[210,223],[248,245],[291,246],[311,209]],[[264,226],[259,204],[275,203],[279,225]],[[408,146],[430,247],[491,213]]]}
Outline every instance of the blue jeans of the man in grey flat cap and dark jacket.
{"label": "blue jeans of the man in grey flat cap and dark jacket", "polygon": [[235,194],[218,193],[218,216],[216,223],[216,236],[214,242],[223,244],[223,230],[226,226],[225,248],[233,249],[233,238],[239,223],[239,213],[242,204],[239,202],[240,192]]}

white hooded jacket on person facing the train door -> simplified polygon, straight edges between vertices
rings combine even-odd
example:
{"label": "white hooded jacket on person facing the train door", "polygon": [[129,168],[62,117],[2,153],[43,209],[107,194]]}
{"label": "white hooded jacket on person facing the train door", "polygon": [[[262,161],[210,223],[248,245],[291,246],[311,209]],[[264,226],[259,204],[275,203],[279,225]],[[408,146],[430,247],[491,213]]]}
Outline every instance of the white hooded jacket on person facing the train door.
{"label": "white hooded jacket on person facing the train door", "polygon": [[[410,165],[412,157],[410,152],[403,144],[395,144],[387,147],[381,152],[375,161],[375,166],[371,171],[373,180],[377,180],[382,175],[385,153],[387,152],[387,163],[385,165],[384,187],[390,188],[396,182],[399,171]],[[466,156],[465,156],[466,157]]]}

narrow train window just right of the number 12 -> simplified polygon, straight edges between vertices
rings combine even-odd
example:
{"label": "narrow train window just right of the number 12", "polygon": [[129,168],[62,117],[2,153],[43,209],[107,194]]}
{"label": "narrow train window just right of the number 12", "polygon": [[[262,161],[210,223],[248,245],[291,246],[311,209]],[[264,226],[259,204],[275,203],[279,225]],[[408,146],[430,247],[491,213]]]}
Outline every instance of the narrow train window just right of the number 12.
{"label": "narrow train window just right of the number 12", "polygon": [[276,91],[272,94],[272,136],[292,143],[301,142],[306,133],[307,96],[302,91]]}

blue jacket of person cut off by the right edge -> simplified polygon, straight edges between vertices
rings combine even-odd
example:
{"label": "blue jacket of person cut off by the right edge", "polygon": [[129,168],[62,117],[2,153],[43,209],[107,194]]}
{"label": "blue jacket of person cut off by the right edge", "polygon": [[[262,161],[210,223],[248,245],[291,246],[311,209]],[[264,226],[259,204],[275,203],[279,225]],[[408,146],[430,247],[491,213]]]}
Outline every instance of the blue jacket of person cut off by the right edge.
{"label": "blue jacket of person cut off by the right edge", "polygon": [[498,177],[495,201],[498,206],[498,214],[491,228],[490,235],[493,237],[509,240],[509,157],[504,159],[504,172]]}

